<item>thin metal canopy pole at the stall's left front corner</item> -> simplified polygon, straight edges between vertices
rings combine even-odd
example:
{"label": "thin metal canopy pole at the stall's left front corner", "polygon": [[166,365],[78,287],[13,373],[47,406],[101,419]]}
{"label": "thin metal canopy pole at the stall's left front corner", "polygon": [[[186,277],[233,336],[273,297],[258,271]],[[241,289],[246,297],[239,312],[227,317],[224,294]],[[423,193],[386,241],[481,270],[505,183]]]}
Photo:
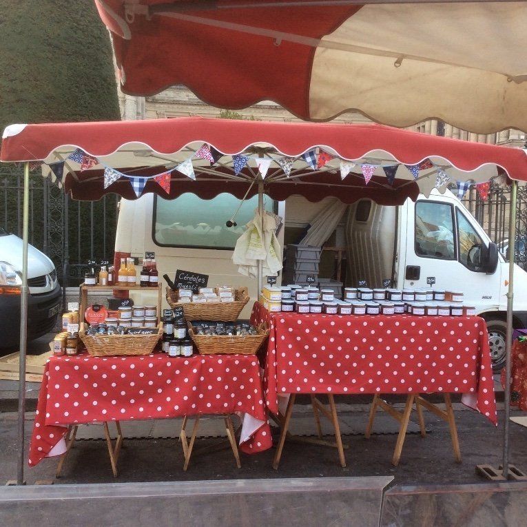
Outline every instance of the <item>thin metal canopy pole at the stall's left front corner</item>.
{"label": "thin metal canopy pole at the stall's left front corner", "polygon": [[20,351],[19,351],[19,416],[17,485],[24,482],[24,419],[25,419],[25,353],[28,347],[28,225],[29,225],[29,162],[24,163],[22,234],[22,287],[20,296]]}

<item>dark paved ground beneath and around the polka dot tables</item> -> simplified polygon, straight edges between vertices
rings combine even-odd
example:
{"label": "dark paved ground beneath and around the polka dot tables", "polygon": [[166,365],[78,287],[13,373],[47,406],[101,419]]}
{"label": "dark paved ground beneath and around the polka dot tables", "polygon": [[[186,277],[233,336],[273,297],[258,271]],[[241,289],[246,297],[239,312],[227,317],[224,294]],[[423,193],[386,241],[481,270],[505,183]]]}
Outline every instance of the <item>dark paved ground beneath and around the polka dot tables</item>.
{"label": "dark paved ground beneath and around the polka dot tables", "polygon": [[[189,470],[182,470],[183,455],[175,437],[166,439],[128,439],[119,459],[118,482],[189,481],[200,479],[245,479],[273,477],[333,477],[393,475],[395,483],[402,485],[463,484],[484,481],[475,475],[476,464],[497,466],[502,455],[502,428],[494,428],[474,411],[455,405],[457,427],[462,448],[463,462],[453,461],[451,442],[446,423],[426,412],[429,429],[426,438],[416,433],[406,437],[402,460],[397,468],[391,466],[391,455],[395,446],[394,433],[375,435],[370,440],[358,435],[366,424],[368,407],[365,405],[340,405],[343,436],[349,445],[346,451],[347,468],[340,468],[336,451],[324,446],[308,444],[286,444],[282,464],[278,471],[271,468],[274,451],[260,455],[242,455],[242,468],[237,469],[231,451],[201,453],[193,457]],[[299,408],[296,414],[298,432],[309,432],[312,426],[307,407]],[[513,412],[514,414],[515,412]],[[501,418],[501,416],[500,416]],[[16,413],[0,413],[0,483],[12,479],[16,473]],[[170,424],[173,424],[170,431]],[[387,420],[378,423],[379,429],[390,432]],[[150,423],[152,425],[152,423]],[[158,425],[158,435],[177,435],[178,422],[166,421]],[[209,425],[213,427],[214,425]],[[93,427],[92,427],[93,428]],[[154,427],[155,428],[155,427]],[[154,430],[154,428],[148,428]],[[311,428],[312,429],[312,428]],[[415,429],[415,428],[414,428]],[[26,423],[26,444],[32,430],[32,417]],[[161,432],[163,430],[163,432]],[[207,432],[208,431],[208,432]],[[392,426],[393,431],[393,426]],[[216,435],[211,428],[204,433]],[[527,428],[515,423],[510,425],[511,462],[527,471]],[[86,433],[85,433],[86,435]],[[89,434],[88,434],[89,435]],[[136,431],[134,435],[141,435]],[[155,435],[155,434],[154,434]],[[96,437],[96,434],[92,434]],[[216,438],[200,438],[196,448],[210,446]],[[61,483],[101,483],[115,481],[102,440],[79,440],[63,470]],[[56,459],[44,459],[35,468],[26,469],[28,484],[40,479],[54,479]]]}

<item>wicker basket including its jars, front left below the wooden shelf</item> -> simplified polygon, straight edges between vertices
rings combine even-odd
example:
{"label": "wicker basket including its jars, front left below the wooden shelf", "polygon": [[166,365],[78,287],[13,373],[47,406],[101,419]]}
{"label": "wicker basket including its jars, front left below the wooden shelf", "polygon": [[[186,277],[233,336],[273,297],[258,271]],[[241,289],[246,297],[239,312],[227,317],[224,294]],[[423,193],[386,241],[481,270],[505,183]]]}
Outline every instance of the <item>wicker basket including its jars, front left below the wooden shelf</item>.
{"label": "wicker basket including its jars, front left below the wooden shelf", "polygon": [[90,326],[79,331],[79,338],[92,357],[150,355],[162,336],[163,324],[155,328],[132,327],[118,331]]}

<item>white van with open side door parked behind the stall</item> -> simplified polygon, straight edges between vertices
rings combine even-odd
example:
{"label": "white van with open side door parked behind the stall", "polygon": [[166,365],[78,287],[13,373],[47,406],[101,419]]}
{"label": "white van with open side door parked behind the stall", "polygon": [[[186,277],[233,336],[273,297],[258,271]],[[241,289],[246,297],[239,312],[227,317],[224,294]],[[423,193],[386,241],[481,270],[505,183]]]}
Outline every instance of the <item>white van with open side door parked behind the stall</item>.
{"label": "white van with open side door parked behind the stall", "polygon": [[[302,229],[327,205],[327,198],[311,203],[293,196],[285,203],[266,198],[265,207],[285,218],[279,233],[283,246],[288,229]],[[163,200],[147,194],[134,201],[121,200],[117,224],[116,251],[143,257],[154,251],[159,276],[174,280],[177,269],[203,273],[209,284],[249,286],[256,298],[256,280],[238,274],[231,262],[232,249],[252,218],[256,198],[247,200],[236,216],[236,227],[225,223],[239,200],[221,194],[201,200],[185,194]],[[360,200],[348,207],[335,235],[336,244],[347,248],[347,285],[366,280],[381,287],[391,280],[393,287],[433,287],[459,289],[466,302],[475,305],[489,330],[495,369],[504,364],[506,293],[508,264],[495,244],[451,193],[433,191],[430,198],[407,200],[400,207],[377,205]],[[515,327],[527,327],[527,273],[515,269]],[[242,316],[249,316],[249,305]]]}

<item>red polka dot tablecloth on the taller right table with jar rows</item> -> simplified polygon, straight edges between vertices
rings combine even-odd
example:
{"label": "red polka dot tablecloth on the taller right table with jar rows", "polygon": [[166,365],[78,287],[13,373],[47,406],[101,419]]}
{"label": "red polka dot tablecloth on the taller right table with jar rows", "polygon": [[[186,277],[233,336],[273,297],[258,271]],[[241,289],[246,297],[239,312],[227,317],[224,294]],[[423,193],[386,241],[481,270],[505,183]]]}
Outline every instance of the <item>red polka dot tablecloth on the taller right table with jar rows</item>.
{"label": "red polka dot tablecloth on the taller right table with jar rows", "polygon": [[264,395],[278,412],[290,393],[462,393],[497,424],[486,324],[479,317],[269,313]]}

